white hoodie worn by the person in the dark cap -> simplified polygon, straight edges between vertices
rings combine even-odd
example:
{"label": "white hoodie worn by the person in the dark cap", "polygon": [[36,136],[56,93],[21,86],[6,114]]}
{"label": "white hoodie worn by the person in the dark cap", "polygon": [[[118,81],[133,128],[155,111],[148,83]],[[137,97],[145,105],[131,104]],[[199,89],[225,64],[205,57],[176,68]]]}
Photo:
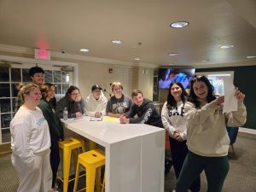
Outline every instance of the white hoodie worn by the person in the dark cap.
{"label": "white hoodie worn by the person in the dark cap", "polygon": [[101,96],[98,100],[94,98],[92,93],[87,96],[85,100],[85,113],[90,117],[94,117],[96,112],[102,113],[102,115],[106,114],[106,106],[108,99],[104,96],[101,91]]}

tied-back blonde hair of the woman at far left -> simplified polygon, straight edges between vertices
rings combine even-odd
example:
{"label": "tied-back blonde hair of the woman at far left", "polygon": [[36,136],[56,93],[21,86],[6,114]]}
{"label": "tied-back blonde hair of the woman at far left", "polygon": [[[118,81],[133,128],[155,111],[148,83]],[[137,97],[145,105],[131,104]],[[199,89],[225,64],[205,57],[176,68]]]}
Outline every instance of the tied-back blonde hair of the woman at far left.
{"label": "tied-back blonde hair of the woman at far left", "polygon": [[39,89],[38,84],[17,84],[16,85],[17,90],[19,90],[18,93],[18,100],[16,102],[16,110],[17,112],[21,105],[24,104],[24,96],[28,95],[32,90]]}

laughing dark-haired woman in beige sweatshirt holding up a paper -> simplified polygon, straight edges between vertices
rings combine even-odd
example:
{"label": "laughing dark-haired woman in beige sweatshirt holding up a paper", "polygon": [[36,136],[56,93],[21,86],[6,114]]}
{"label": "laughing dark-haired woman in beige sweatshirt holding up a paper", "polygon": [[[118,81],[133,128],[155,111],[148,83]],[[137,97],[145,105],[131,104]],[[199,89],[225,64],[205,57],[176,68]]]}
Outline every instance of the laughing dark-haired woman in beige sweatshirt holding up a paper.
{"label": "laughing dark-haired woman in beige sweatshirt holding up a paper", "polygon": [[223,113],[224,96],[213,96],[213,86],[204,77],[191,81],[189,102],[185,104],[188,121],[189,152],[177,179],[177,192],[187,192],[191,183],[205,171],[208,192],[221,192],[229,172],[230,139],[226,126],[244,125],[247,119],[244,95],[236,88],[237,111]]}

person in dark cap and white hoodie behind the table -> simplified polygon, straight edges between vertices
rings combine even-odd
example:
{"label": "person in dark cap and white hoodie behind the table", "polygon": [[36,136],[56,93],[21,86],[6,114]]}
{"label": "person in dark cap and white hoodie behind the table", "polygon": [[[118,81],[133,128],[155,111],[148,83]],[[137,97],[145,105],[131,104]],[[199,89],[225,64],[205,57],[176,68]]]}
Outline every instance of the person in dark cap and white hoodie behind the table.
{"label": "person in dark cap and white hoodie behind the table", "polygon": [[95,84],[91,87],[91,93],[85,100],[85,113],[90,117],[99,118],[106,115],[108,99],[102,93],[102,87]]}

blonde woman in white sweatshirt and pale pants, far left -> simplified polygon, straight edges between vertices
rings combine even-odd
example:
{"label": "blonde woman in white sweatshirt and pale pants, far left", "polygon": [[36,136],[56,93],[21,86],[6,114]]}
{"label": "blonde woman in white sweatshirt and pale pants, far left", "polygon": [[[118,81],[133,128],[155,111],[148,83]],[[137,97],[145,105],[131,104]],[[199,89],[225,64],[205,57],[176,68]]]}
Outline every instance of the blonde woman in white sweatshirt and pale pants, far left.
{"label": "blonde woman in white sweatshirt and pale pants, far left", "polygon": [[10,123],[12,163],[19,176],[18,192],[50,191],[49,126],[38,104],[37,84],[20,88],[20,108]]}

